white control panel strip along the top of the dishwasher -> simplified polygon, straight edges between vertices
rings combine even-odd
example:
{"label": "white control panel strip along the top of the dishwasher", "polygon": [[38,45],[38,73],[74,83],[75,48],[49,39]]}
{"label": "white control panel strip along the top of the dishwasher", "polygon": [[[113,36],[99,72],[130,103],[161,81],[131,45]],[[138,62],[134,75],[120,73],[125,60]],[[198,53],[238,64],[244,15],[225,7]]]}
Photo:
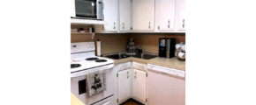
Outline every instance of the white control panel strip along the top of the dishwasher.
{"label": "white control panel strip along the top of the dishwasher", "polygon": [[147,64],[147,69],[151,69],[151,70],[162,72],[162,73],[169,73],[169,74],[173,74],[173,75],[176,75],[179,77],[185,76],[185,71],[174,69],[174,68],[169,68],[169,67],[165,67],[165,66],[156,66],[153,64]]}

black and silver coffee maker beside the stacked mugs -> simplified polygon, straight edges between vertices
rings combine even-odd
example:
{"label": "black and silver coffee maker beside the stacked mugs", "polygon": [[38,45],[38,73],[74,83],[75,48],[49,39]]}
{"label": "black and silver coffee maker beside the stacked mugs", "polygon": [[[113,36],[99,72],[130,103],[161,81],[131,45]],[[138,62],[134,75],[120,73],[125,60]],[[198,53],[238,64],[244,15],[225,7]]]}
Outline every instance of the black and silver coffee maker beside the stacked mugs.
{"label": "black and silver coffee maker beside the stacked mugs", "polygon": [[159,52],[161,58],[175,57],[175,38],[159,38]]}

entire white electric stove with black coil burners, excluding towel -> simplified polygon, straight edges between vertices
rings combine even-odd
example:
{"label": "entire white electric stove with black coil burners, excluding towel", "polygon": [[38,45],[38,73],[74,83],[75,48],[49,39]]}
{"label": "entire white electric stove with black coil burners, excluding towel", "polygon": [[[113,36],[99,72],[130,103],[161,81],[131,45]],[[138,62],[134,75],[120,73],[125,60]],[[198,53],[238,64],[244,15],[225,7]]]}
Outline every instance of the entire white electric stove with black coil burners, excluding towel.
{"label": "entire white electric stove with black coil burners, excluding towel", "polygon": [[[95,56],[94,42],[70,43],[70,92],[86,105],[114,105],[114,61]],[[106,90],[87,97],[86,74],[105,70]]]}

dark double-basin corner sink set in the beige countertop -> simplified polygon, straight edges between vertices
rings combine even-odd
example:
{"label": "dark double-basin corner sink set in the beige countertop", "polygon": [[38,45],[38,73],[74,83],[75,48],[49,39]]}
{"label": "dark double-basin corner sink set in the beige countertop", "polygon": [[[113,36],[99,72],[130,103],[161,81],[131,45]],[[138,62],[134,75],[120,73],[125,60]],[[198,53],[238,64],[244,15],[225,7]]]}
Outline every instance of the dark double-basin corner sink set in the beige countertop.
{"label": "dark double-basin corner sink set in the beige countertop", "polygon": [[157,56],[152,54],[146,54],[146,53],[136,53],[135,55],[126,55],[125,53],[117,53],[109,56],[105,56],[110,59],[125,59],[129,57],[139,58],[139,59],[154,59]]}

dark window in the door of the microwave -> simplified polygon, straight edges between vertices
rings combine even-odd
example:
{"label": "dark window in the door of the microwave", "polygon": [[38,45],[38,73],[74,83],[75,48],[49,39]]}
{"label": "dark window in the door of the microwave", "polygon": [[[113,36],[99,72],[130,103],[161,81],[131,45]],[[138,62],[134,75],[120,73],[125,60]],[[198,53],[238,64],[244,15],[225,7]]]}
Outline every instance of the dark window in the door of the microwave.
{"label": "dark window in the door of the microwave", "polygon": [[75,0],[76,17],[96,18],[96,0]]}

